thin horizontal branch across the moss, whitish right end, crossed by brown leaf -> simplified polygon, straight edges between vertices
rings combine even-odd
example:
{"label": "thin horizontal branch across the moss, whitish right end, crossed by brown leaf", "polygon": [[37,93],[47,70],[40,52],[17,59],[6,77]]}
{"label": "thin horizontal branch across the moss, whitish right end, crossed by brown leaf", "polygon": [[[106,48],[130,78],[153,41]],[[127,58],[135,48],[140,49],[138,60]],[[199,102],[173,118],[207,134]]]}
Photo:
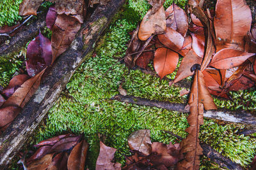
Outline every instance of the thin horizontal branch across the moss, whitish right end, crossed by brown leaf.
{"label": "thin horizontal branch across the moss, whitish right end, crossed by brown leaf", "polygon": [[[152,106],[152,107],[163,108],[171,111],[178,111],[181,113],[188,113],[188,110],[186,110],[186,104],[182,104],[182,103],[151,101],[148,99],[143,99],[141,97],[122,96],[122,95],[116,95],[111,99],[126,102],[126,103],[138,104],[143,106]],[[239,111],[207,110],[207,111],[204,111],[204,117],[214,118],[218,120],[234,122],[239,124],[256,125],[256,116],[253,115],[252,113],[248,113],[243,110],[239,110]]]}

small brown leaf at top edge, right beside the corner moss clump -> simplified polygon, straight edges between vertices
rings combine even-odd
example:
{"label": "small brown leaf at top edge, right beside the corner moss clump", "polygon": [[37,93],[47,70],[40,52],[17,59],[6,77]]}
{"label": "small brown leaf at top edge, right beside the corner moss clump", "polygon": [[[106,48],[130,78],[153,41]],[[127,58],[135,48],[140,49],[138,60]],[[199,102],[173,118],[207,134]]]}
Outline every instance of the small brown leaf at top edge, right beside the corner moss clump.
{"label": "small brown leaf at top edge, right beside the corner moss clump", "polygon": [[20,4],[19,15],[36,15],[36,11],[44,0],[24,0]]}

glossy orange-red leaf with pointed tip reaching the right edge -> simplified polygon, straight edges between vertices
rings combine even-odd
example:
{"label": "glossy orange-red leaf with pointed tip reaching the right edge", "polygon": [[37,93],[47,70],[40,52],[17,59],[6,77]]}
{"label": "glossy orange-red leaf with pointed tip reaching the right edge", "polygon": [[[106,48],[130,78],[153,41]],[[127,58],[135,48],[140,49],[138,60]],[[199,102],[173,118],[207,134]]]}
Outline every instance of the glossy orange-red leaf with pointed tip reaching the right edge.
{"label": "glossy orange-red leaf with pointed tip reaching the right edge", "polygon": [[240,66],[246,59],[255,53],[242,52],[233,48],[224,48],[217,52],[211,60],[209,66],[216,69],[229,69]]}

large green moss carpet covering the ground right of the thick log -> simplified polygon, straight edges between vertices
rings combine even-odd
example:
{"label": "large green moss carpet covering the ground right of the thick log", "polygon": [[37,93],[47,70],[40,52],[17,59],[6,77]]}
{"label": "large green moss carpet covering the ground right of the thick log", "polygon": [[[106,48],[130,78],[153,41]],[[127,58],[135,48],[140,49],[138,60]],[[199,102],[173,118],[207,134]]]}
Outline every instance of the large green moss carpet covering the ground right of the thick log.
{"label": "large green moss carpet covering the ground right of the thick log", "polygon": [[[166,1],[165,6],[171,3]],[[178,4],[184,6],[185,3],[180,1]],[[175,103],[186,100],[187,96],[179,96],[181,88],[169,87],[167,80],[160,81],[139,70],[129,71],[124,63],[118,62],[109,70],[118,58],[124,57],[127,42],[131,38],[128,32],[136,28],[148,8],[146,1],[130,0],[125,4],[98,42],[95,50],[97,55],[79,67],[49,111],[47,120],[38,129],[36,141],[65,132],[84,133],[90,143],[88,167],[93,169],[99,154],[99,138],[104,139],[106,145],[117,149],[116,160],[124,164],[124,155],[130,154],[127,137],[131,132],[150,129],[152,141],[164,143],[174,143],[177,139],[163,130],[186,137],[187,114],[110,100],[118,94],[119,85],[132,96]],[[175,73],[169,77],[173,76]],[[253,111],[256,106],[254,94],[255,90],[244,90],[232,92],[233,102],[214,100],[219,108],[236,109],[243,108],[241,100],[246,99],[251,105],[243,109]],[[236,132],[243,128],[243,125],[237,124],[219,125],[217,121],[205,118],[204,125],[200,127],[200,141],[246,167],[255,155],[256,139],[237,135]],[[202,157],[201,169],[219,167]]]}

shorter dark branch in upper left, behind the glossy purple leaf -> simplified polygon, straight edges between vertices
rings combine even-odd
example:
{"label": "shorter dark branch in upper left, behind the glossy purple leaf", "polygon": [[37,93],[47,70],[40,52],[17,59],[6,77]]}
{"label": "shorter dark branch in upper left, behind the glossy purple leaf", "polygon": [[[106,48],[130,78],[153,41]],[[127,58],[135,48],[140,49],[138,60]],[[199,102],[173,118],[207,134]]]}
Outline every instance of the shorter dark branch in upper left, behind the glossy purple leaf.
{"label": "shorter dark branch in upper left, behind the glossy purple leaf", "polygon": [[[0,60],[9,59],[13,53],[19,52],[20,48],[26,46],[28,41],[35,38],[40,29],[46,26],[45,17],[45,12],[38,14],[37,18],[31,21],[29,25],[9,39],[10,41],[8,43],[0,45]],[[6,36],[2,36],[2,38],[8,40]]]}

